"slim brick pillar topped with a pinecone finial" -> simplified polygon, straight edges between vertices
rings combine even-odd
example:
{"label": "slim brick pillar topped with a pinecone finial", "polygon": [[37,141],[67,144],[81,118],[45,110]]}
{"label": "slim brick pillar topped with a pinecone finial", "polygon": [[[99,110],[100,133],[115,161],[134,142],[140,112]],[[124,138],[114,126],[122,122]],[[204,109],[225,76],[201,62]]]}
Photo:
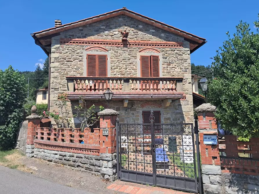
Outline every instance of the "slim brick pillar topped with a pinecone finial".
{"label": "slim brick pillar topped with a pinecone finial", "polygon": [[26,156],[30,158],[34,155],[34,137],[41,122],[41,116],[37,115],[36,111],[37,107],[33,105],[31,109],[32,114],[26,117],[26,119],[28,119]]}

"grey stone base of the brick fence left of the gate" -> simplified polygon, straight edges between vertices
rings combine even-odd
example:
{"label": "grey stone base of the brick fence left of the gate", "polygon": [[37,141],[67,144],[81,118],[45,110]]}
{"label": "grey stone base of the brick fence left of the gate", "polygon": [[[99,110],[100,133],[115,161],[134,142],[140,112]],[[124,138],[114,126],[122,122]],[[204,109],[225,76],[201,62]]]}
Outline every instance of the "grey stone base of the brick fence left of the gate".
{"label": "grey stone base of the brick fence left of the gate", "polygon": [[34,158],[86,170],[106,180],[117,179],[116,153],[100,153],[97,156],[35,148]]}

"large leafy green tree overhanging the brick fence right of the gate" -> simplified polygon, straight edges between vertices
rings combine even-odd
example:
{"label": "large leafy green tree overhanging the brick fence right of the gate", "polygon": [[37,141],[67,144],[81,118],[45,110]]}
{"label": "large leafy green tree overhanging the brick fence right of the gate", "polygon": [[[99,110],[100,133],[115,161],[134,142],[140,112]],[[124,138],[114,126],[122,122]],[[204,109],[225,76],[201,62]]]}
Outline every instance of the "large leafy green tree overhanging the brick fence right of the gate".
{"label": "large leafy green tree overhanging the brick fence right of the gate", "polygon": [[[259,27],[259,21],[254,24]],[[242,21],[236,30],[233,37],[227,32],[227,40],[216,51],[217,79],[209,83],[209,98],[218,108],[215,116],[222,127],[239,140],[248,140],[259,137],[259,34]]]}

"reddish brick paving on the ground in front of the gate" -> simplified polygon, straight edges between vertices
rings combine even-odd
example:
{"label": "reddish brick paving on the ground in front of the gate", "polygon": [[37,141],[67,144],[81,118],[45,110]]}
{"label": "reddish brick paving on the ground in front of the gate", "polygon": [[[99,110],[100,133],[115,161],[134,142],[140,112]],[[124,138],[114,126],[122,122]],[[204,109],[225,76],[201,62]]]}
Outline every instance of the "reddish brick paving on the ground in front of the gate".
{"label": "reddish brick paving on the ground in front of the gate", "polygon": [[113,191],[119,191],[130,194],[191,194],[182,191],[172,190],[168,188],[137,184],[116,180],[107,187]]}

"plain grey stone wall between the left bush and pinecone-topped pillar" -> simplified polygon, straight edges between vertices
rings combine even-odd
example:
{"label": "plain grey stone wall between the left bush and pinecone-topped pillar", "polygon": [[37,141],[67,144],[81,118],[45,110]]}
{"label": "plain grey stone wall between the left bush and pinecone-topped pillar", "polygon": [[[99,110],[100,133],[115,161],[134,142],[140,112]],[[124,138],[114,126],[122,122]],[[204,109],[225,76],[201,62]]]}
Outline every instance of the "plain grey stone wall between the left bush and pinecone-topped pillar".
{"label": "plain grey stone wall between the left bush and pinecone-topped pillar", "polygon": [[20,150],[22,153],[26,154],[26,141],[27,141],[27,130],[28,130],[28,120],[20,123],[18,129],[18,137],[16,141],[16,149]]}

